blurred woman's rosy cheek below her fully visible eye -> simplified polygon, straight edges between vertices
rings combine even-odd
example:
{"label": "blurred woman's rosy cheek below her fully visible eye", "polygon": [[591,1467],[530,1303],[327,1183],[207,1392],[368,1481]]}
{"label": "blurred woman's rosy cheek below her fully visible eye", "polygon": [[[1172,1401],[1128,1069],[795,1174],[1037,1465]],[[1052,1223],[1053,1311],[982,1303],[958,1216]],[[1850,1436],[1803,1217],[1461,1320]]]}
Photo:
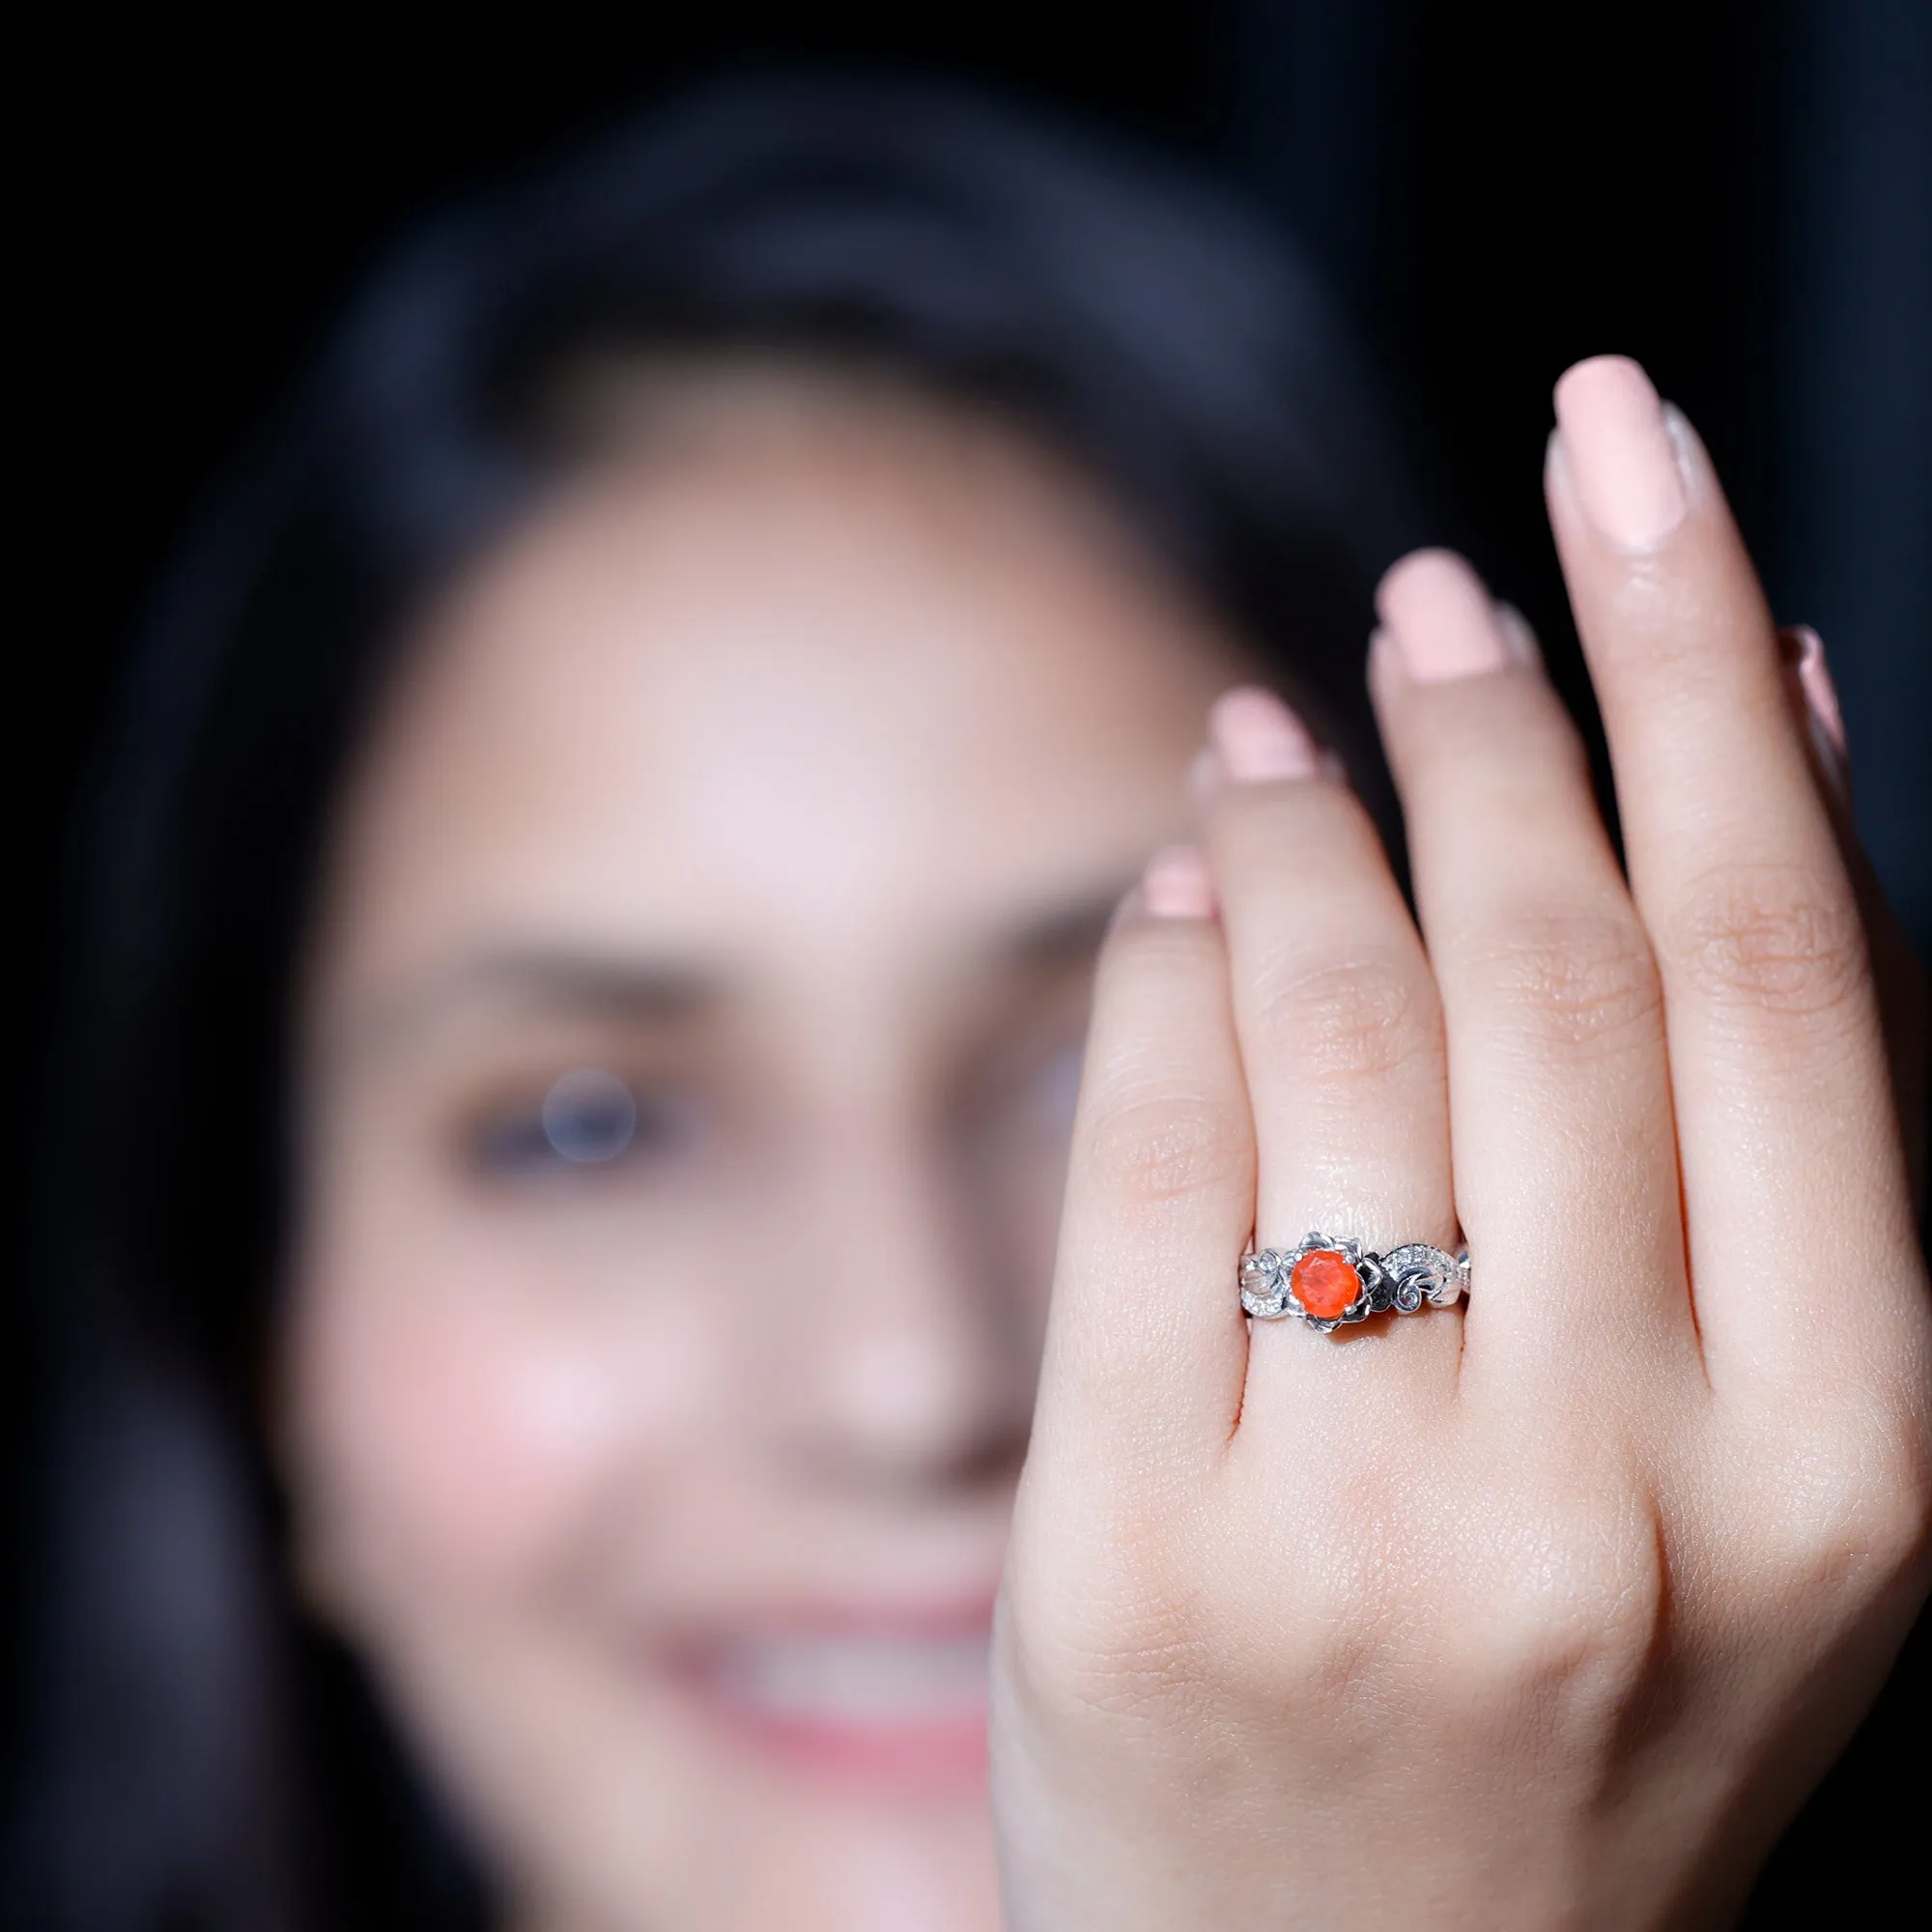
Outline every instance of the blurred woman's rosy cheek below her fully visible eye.
{"label": "blurred woman's rosy cheek below her fully visible eye", "polygon": [[541,1594],[638,1522],[701,1430],[715,1350],[692,1298],[587,1304],[500,1252],[323,1260],[296,1285],[298,1536],[330,1607]]}

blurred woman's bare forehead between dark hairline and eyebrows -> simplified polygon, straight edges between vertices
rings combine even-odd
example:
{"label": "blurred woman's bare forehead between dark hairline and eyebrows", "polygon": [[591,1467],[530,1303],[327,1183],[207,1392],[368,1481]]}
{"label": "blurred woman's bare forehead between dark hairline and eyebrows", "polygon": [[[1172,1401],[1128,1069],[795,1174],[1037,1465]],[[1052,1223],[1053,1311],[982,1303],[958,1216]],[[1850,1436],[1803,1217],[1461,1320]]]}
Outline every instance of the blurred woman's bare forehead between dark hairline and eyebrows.
{"label": "blurred woman's bare forehead between dark hairline and eyebrows", "polygon": [[1132,869],[1233,655],[995,425],[717,408],[425,626],[344,811],[338,951],[945,945]]}

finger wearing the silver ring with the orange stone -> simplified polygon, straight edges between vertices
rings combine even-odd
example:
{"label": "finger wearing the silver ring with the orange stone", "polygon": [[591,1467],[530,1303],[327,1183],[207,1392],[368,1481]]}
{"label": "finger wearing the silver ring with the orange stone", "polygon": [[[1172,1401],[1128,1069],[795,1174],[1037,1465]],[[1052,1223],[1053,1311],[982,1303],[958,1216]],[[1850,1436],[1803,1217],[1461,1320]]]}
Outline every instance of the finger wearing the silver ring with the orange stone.
{"label": "finger wearing the silver ring with the orange stone", "polygon": [[[1291,1248],[1318,1229],[1374,1250],[1449,1248],[1441,1007],[1381,840],[1271,694],[1223,697],[1213,750],[1209,846],[1254,1109],[1256,1242]],[[1331,1335],[1256,1321],[1244,1420],[1320,1426],[1335,1403],[1364,1389],[1406,1399],[1418,1379],[1447,1397],[1459,1329],[1437,1310]]]}

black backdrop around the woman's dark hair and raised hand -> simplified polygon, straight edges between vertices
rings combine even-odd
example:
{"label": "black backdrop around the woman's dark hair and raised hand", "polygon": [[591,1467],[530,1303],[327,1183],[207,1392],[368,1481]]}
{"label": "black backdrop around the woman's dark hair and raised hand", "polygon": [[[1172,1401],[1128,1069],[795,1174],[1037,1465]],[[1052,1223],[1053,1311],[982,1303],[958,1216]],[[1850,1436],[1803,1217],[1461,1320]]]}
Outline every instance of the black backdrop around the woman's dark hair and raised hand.
{"label": "black backdrop around the woman's dark hair and raised hand", "polygon": [[[1826,638],[1866,838],[1932,951],[1932,0],[551,0],[68,10],[39,33],[12,89],[41,131],[8,238],[27,531],[6,827],[31,970],[10,1092],[33,1092],[62,827],[145,587],[371,257],[678,83],[798,58],[976,77],[1271,205],[1372,346],[1439,535],[1578,703],[1542,520],[1549,384],[1638,355],[1712,444],[1779,614]],[[12,1121],[19,1192],[33,1107]],[[6,1408],[14,1341],[8,1316]],[[1911,1750],[1909,1810],[1907,1708],[1864,1748]],[[1859,1803],[1828,1797],[1816,1826],[1853,1861],[1897,1830]]]}

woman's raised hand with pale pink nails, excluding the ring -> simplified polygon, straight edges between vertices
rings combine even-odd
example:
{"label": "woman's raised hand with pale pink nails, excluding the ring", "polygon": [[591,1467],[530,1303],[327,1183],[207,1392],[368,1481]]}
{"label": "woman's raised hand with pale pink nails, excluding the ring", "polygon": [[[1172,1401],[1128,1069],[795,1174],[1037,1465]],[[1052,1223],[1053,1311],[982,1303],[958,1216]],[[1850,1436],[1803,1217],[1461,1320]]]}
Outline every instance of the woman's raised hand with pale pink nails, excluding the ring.
{"label": "woman's raised hand with pale pink nails, excluding the ring", "polygon": [[[995,1640],[1016,1932],[1725,1924],[1924,1598],[1915,1016],[1822,661],[1633,363],[1557,419],[1627,875],[1434,553],[1368,663],[1420,929],[1256,690],[1105,949]],[[1461,1229],[1466,1310],[1244,1321],[1250,1231],[1312,1227]]]}

